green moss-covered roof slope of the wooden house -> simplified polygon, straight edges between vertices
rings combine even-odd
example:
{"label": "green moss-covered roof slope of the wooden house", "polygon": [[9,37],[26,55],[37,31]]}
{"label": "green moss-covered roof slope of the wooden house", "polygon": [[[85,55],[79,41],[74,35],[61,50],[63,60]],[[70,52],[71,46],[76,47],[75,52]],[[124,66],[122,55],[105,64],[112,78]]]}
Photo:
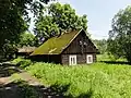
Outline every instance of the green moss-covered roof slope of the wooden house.
{"label": "green moss-covered roof slope of the wooden house", "polygon": [[80,34],[81,29],[64,33],[59,37],[52,37],[35,49],[31,56],[60,54],[71,41]]}

